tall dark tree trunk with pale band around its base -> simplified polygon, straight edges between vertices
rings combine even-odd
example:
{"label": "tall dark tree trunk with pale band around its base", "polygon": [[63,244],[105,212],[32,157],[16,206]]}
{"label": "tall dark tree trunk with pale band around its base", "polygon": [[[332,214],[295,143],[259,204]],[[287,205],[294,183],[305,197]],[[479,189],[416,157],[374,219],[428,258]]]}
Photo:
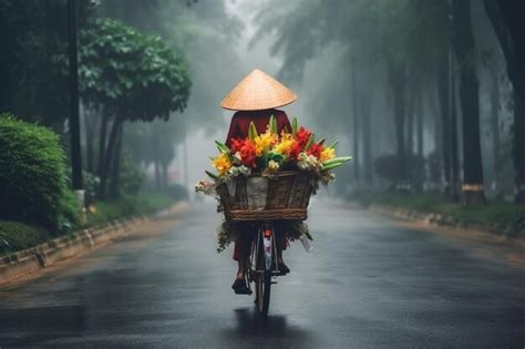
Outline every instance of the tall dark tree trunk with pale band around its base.
{"label": "tall dark tree trunk with pale band around its base", "polygon": [[485,203],[480,144],[480,82],[472,57],[474,37],[471,24],[471,1],[453,0],[453,45],[460,63],[460,99],[463,115],[463,185],[462,204]]}

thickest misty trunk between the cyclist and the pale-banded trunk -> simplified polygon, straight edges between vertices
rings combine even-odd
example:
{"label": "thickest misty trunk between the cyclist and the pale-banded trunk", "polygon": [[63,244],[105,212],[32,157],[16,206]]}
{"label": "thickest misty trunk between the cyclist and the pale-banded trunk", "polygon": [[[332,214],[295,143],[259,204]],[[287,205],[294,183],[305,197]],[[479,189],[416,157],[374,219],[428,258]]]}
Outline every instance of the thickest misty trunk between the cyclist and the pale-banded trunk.
{"label": "thickest misty trunk between the cyclist and the pale-banded trunk", "polygon": [[395,138],[398,154],[399,183],[397,187],[404,189],[406,186],[406,160],[404,147],[404,113],[405,113],[405,71],[402,63],[397,63],[388,58],[389,84],[393,96],[393,112],[395,122]]}

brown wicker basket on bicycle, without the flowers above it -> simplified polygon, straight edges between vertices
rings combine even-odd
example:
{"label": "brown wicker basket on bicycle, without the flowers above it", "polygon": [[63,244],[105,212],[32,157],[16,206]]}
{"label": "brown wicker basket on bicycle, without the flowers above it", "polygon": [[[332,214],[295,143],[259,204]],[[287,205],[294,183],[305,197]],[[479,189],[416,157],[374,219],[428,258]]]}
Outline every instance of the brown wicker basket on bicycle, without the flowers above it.
{"label": "brown wicker basket on bicycle, without the flowers above it", "polygon": [[217,192],[229,220],[303,220],[312,193],[311,176],[298,171],[278,172],[272,178],[238,176]]}

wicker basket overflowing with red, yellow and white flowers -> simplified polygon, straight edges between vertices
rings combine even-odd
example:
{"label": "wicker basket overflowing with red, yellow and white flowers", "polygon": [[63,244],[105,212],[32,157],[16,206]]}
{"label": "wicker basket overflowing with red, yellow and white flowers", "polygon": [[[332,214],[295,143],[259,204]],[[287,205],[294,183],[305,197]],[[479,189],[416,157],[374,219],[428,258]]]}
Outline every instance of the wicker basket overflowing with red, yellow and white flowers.
{"label": "wicker basket overflowing with red, yellow and white flowers", "polygon": [[297,119],[291,132],[279,134],[274,116],[262,134],[250,123],[248,137],[231,140],[229,147],[216,142],[219,154],[212,157],[216,173],[206,171],[212,182],[200,181],[195,189],[215,196],[225,213],[219,250],[235,239],[234,223],[238,220],[282,220],[290,239],[309,236],[302,220],[310,195],[319,183],[334,179],[333,168],[351,160],[336,156],[337,141],[330,145],[325,142],[298,127]]}

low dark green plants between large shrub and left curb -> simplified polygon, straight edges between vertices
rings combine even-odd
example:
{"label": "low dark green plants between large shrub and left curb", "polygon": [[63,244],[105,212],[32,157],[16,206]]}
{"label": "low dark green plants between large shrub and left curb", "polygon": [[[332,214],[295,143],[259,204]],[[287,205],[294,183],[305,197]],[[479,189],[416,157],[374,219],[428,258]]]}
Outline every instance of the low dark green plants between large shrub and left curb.
{"label": "low dark green plants between large shrub and left curb", "polygon": [[41,227],[10,220],[0,220],[0,255],[33,247],[52,236]]}

